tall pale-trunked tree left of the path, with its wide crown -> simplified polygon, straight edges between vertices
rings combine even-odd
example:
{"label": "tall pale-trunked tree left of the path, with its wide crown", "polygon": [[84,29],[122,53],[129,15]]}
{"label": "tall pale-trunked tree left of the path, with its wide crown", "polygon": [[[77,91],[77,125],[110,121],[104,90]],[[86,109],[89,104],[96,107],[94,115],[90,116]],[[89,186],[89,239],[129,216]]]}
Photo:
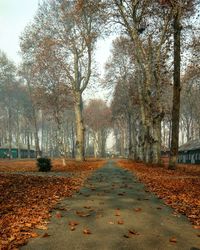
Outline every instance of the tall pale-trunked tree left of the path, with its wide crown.
{"label": "tall pale-trunked tree left of the path, with its wide crown", "polygon": [[24,60],[31,62],[32,67],[33,63],[37,65],[40,73],[48,60],[43,53],[46,46],[51,48],[55,62],[63,70],[62,77],[74,98],[77,160],[84,159],[82,94],[91,78],[93,51],[101,27],[100,5],[99,1],[81,0],[44,2],[35,22],[25,30],[21,43]]}

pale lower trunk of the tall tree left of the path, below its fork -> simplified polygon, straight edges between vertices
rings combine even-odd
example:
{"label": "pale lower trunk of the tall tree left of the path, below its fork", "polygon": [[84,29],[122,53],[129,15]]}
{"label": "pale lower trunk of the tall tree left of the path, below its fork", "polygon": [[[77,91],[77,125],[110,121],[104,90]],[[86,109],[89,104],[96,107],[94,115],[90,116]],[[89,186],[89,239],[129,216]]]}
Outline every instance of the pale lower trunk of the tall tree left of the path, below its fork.
{"label": "pale lower trunk of the tall tree left of the path, below its fork", "polygon": [[84,160],[84,124],[82,115],[82,96],[79,91],[75,93],[75,118],[76,118],[76,160]]}

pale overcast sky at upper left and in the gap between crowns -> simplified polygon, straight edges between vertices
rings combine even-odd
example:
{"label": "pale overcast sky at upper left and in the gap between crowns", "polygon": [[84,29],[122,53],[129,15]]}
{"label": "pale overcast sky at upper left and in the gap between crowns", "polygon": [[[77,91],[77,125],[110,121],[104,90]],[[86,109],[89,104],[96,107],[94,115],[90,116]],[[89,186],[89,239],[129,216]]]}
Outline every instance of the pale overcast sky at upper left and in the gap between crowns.
{"label": "pale overcast sky at upper left and in the gap between crowns", "polygon": [[[0,0],[0,50],[9,59],[20,62],[19,37],[25,26],[33,20],[39,0]],[[101,72],[109,55],[110,41],[97,44],[96,58]]]}

